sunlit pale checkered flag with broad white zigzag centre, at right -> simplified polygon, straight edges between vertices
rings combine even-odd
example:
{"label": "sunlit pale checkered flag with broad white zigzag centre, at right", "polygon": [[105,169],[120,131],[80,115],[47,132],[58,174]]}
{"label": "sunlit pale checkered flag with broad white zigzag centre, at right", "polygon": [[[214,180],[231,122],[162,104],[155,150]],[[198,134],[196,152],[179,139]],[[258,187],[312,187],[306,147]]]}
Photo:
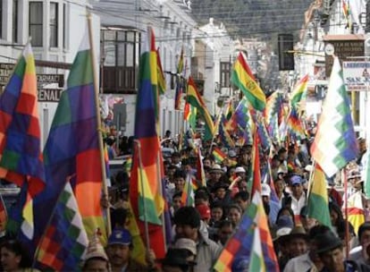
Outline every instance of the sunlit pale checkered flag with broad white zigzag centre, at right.
{"label": "sunlit pale checkered flag with broad white zigzag centre, at right", "polygon": [[350,115],[349,98],[341,64],[334,58],[329,88],[324,100],[311,154],[328,177],[357,157],[357,139]]}

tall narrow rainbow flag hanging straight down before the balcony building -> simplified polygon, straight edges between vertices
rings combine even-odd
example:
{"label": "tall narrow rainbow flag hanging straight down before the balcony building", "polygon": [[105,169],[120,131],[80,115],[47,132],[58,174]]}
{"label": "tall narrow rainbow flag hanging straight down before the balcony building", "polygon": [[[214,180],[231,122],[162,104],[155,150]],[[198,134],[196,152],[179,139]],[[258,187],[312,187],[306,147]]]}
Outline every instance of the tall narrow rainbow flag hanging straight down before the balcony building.
{"label": "tall narrow rainbow flag hanging straight down before the balcony building", "polygon": [[[136,100],[135,149],[130,172],[130,204],[142,238],[148,228],[150,245],[156,258],[164,258],[165,240],[161,215],[165,212],[162,196],[163,161],[157,132],[156,37],[151,27],[143,38],[139,64],[139,90]],[[145,203],[145,204],[144,204]]]}

